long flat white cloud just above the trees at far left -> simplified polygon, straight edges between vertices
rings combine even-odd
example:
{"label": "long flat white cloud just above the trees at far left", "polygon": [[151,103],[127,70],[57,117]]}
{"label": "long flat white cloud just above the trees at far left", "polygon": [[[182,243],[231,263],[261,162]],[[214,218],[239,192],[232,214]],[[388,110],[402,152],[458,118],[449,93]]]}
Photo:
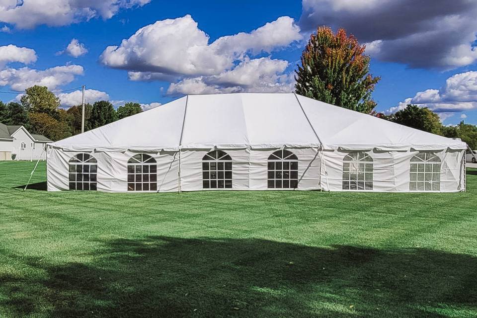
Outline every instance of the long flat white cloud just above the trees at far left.
{"label": "long flat white cloud just above the trees at far left", "polygon": [[44,71],[30,68],[0,71],[0,86],[9,85],[11,89],[21,91],[33,85],[47,86],[55,89],[75,80],[75,76],[83,75],[83,68],[79,65],[57,66]]}

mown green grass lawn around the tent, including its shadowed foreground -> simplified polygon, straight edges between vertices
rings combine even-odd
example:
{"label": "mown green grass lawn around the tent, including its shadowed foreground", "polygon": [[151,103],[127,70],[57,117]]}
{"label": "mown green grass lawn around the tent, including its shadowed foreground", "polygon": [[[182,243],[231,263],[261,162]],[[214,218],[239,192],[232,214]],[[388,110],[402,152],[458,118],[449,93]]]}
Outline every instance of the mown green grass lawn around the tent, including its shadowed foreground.
{"label": "mown green grass lawn around the tent, including its shadowed foreground", "polygon": [[0,162],[0,317],[477,317],[467,193],[42,190]]}

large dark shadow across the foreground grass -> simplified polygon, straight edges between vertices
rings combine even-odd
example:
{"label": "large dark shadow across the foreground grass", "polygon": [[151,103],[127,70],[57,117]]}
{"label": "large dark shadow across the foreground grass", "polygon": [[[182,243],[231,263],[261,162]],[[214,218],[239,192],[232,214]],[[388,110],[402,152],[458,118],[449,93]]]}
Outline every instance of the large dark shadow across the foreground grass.
{"label": "large dark shadow across the foreground grass", "polygon": [[150,237],[106,242],[92,256],[90,263],[61,266],[25,259],[44,275],[0,276],[0,308],[11,317],[476,313],[477,259],[463,254]]}

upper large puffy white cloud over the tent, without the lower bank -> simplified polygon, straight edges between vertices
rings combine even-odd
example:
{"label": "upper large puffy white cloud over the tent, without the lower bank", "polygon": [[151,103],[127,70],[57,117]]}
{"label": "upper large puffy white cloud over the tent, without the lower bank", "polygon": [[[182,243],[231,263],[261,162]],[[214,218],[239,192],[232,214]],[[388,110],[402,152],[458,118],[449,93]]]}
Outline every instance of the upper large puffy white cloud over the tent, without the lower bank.
{"label": "upper large puffy white cloud over the tent, without the lower bank", "polygon": [[[232,68],[234,61],[241,60],[247,52],[271,52],[301,38],[294,20],[280,17],[250,33],[224,36],[209,44],[209,36],[186,15],[139,29],[120,46],[107,47],[100,61],[111,68],[131,72],[210,76]],[[132,74],[133,79],[141,77]]]}

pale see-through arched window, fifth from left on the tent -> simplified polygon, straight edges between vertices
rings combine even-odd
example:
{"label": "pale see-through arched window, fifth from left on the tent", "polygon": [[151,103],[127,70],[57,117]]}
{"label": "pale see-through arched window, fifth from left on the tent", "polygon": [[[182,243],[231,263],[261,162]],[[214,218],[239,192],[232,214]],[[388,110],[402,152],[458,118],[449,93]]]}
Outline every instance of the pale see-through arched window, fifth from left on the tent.
{"label": "pale see-through arched window, fifth from left on the tent", "polygon": [[373,158],[365,152],[343,158],[343,190],[373,190]]}

